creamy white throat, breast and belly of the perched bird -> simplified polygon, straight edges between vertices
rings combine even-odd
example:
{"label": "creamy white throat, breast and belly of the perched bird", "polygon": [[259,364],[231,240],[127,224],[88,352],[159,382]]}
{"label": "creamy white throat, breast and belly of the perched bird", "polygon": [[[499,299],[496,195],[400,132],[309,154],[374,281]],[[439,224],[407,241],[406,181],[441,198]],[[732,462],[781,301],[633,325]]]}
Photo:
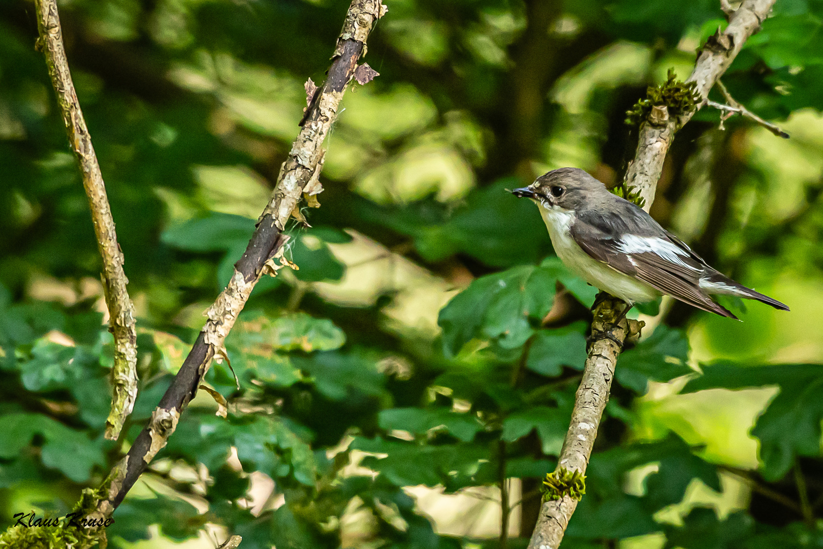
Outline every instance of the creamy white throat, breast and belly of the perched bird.
{"label": "creamy white throat, breast and belly of the perched bird", "polygon": [[546,228],[549,230],[551,245],[554,246],[557,257],[570,271],[592,286],[607,291],[627,303],[644,303],[660,295],[660,292],[645,282],[618,272],[609,267],[607,263],[597,261],[586,254],[574,242],[570,233],[574,222],[574,212],[556,206],[546,207],[543,204],[538,204],[538,207],[543,221],[546,222]]}

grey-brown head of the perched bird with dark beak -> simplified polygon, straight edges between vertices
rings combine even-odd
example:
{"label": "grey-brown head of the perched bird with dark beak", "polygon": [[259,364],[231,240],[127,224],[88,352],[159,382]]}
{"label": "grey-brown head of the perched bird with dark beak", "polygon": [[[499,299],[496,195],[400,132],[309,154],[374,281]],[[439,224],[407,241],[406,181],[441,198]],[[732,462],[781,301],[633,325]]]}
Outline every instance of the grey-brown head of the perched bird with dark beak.
{"label": "grey-brown head of the perched bird with dark beak", "polygon": [[560,168],[541,175],[528,187],[515,188],[518,198],[531,198],[546,210],[574,212],[584,205],[591,207],[609,192],[604,184],[579,168]]}

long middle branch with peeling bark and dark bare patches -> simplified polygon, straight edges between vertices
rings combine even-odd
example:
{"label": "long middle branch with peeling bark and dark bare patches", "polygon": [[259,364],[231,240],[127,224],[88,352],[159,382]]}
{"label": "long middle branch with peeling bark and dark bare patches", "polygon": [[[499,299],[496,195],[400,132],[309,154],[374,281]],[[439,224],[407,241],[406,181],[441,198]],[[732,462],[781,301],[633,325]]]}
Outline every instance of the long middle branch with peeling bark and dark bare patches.
{"label": "long middle branch with peeling bark and dark bare patches", "polygon": [[151,459],[165,446],[174,433],[180,414],[197,393],[212,358],[221,361],[221,357],[226,356],[223,342],[254,285],[260,277],[279,268],[272,260],[282,254],[282,245],[288,240],[286,235],[282,235],[282,230],[301,195],[314,195],[322,190],[318,178],[323,169],[323,140],[337,117],[343,93],[355,74],[357,60],[365,53],[365,41],[374,21],[383,16],[387,9],[380,0],[352,0],[337,39],[326,82],[311,98],[301,122],[300,135],[281,166],[272,198],[260,216],[243,257],[235,263],[234,275],[226,289],[207,309],[206,325],[151,414],[149,424],[134,440],[128,454],[109,472],[103,486],[89,492],[95,498],[99,496],[92,508],[94,512],[89,515],[91,519],[109,517]]}

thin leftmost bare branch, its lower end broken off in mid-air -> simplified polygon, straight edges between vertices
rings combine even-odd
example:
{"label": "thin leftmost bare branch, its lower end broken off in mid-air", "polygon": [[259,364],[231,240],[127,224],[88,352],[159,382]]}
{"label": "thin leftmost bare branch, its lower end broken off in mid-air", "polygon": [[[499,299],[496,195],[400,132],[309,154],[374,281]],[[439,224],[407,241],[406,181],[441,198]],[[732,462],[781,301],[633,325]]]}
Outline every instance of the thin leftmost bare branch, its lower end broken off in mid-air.
{"label": "thin leftmost bare branch, its lower end broken off in mid-air", "polygon": [[117,440],[123,421],[132,413],[137,398],[137,333],[134,328],[134,306],[128,297],[128,278],[123,272],[123,252],[117,244],[114,220],[106,196],[103,175],[97,163],[86,120],[77,101],[72,74],[68,70],[66,50],[63,49],[63,32],[55,0],[37,0],[37,27],[40,32],[38,46],[43,50],[49,77],[57,94],[57,102],[66,124],[68,140],[83,177],[83,187],[89,198],[91,220],[95,226],[97,248],[103,258],[103,292],[109,309],[109,331],[114,334],[114,397],[111,412],[106,420],[105,436]]}

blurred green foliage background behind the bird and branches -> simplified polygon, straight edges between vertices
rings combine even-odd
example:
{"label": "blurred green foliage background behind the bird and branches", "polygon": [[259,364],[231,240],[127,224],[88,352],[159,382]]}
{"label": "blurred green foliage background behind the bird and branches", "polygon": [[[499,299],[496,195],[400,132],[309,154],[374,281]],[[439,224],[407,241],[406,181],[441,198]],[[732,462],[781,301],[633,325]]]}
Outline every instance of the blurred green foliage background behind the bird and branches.
{"label": "blurred green foliage background behind the bird and branches", "polygon": [[[685,78],[725,21],[714,0],[386,3],[365,58],[380,76],[347,92],[323,205],[287,230],[300,269],[260,281],[226,340],[234,373],[207,375],[228,417],[207,393],[191,403],[114,514],[114,547],[204,528],[246,549],[503,547],[501,485],[508,547],[525,547],[596,290],[505,189],[562,165],[614,186],[636,142],[625,112],[670,68]],[[86,198],[34,9],[0,2],[0,526],[69,512],[151,416],[253,232],[346,7],[61,3],[139,317],[140,393],[113,443]],[[652,209],[793,312],[641,309],[563,547],[823,547],[821,26],[820,0],[778,0],[723,77],[792,138],[741,119],[723,132],[700,110]]]}

